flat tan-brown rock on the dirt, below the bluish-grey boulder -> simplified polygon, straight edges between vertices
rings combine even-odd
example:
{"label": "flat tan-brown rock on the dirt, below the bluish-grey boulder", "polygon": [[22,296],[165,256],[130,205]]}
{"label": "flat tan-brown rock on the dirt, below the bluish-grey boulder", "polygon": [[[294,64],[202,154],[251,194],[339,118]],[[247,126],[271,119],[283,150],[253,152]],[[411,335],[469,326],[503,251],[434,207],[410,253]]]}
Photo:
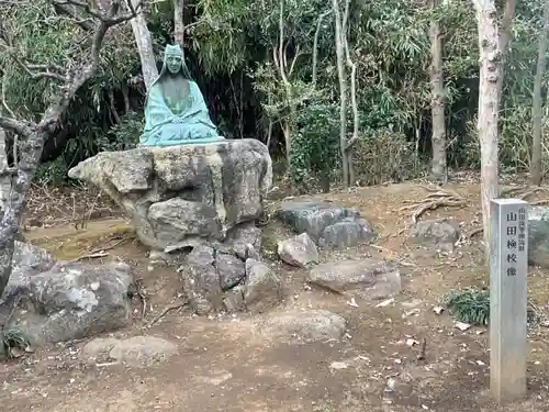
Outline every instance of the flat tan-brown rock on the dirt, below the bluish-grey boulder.
{"label": "flat tan-brown rock on the dirt, below the bluish-grey boulder", "polygon": [[399,265],[374,258],[317,265],[309,272],[309,281],[339,293],[352,291],[366,299],[384,299],[402,288]]}

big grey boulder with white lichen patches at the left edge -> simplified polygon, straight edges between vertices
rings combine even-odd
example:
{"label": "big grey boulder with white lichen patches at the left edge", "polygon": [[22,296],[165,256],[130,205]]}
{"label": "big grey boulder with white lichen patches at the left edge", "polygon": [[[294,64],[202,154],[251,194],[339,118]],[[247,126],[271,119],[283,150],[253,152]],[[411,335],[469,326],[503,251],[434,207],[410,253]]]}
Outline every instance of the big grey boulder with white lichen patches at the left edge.
{"label": "big grey boulder with white lichen patches at the left edge", "polygon": [[14,261],[34,266],[19,266],[14,271],[2,296],[0,314],[5,320],[15,308],[10,327],[19,329],[33,345],[83,338],[131,323],[133,275],[128,265],[52,265],[47,253],[37,253],[29,245],[24,248],[34,257],[26,255]]}

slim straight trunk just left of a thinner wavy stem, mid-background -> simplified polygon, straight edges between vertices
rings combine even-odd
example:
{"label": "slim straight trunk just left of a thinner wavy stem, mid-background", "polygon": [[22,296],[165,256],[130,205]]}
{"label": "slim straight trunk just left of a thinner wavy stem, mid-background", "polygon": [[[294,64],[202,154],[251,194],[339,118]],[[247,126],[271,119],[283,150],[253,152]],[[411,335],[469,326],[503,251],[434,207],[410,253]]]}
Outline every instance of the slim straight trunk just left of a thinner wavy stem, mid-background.
{"label": "slim straight trunk just left of a thinner wavy stem, mid-background", "polygon": [[345,45],[338,0],[333,0],[332,7],[335,20],[337,77],[339,78],[339,151],[341,153],[341,178],[344,187],[347,188],[349,186],[349,159],[347,156],[347,74],[345,70]]}

